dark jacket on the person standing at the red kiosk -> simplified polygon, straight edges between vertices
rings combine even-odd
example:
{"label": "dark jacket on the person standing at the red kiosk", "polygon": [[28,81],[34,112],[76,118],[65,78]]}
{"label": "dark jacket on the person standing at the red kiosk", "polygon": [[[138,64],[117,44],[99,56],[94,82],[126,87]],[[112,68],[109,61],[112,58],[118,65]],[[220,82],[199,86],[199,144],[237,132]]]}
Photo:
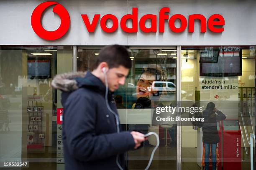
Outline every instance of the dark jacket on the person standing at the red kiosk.
{"label": "dark jacket on the person standing at the red kiosk", "polygon": [[202,127],[204,143],[218,143],[220,141],[217,122],[226,119],[226,116],[220,111],[216,113],[212,114],[209,110],[204,110],[199,116],[204,118],[204,122],[198,124],[198,127]]}

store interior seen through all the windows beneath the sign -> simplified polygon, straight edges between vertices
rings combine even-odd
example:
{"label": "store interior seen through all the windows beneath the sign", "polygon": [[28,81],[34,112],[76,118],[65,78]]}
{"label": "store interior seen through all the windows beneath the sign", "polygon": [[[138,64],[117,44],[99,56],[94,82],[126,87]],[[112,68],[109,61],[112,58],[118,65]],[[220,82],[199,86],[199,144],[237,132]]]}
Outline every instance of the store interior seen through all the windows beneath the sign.
{"label": "store interior seen through all the windows beneath the sign", "polygon": [[[0,48],[1,160],[27,160],[29,168],[26,169],[31,170],[64,170],[61,124],[56,123],[57,108],[62,108],[61,91],[54,90],[51,81],[56,74],[74,70],[73,63],[77,63],[77,71],[92,71],[100,48],[77,46],[77,58],[73,58],[72,46]],[[216,60],[216,49],[218,59],[210,64],[222,66],[219,69],[210,68],[209,61],[203,61],[207,57]],[[178,75],[181,77],[181,101],[190,105],[197,103],[204,109],[207,102],[216,102],[216,107],[227,119],[240,123],[237,126],[240,125],[238,129],[241,130],[241,169],[250,167],[249,140],[250,134],[255,133],[254,46],[183,46],[180,74],[176,46],[136,47],[128,48],[128,52],[132,68],[125,85],[115,92],[115,101],[123,129],[159,134],[160,146],[151,169],[175,170],[178,156],[182,160],[182,170],[201,169],[200,128],[182,125],[181,135],[177,136],[176,124],[152,124],[154,106],[177,102]],[[221,61],[225,57],[233,57],[236,61]],[[154,81],[170,90],[152,93]],[[222,85],[226,89],[202,89],[205,85]],[[178,140],[181,140],[181,155],[177,155]],[[224,145],[225,141],[222,142]],[[156,140],[150,137],[141,149],[127,152],[128,168],[144,169],[155,145]]]}

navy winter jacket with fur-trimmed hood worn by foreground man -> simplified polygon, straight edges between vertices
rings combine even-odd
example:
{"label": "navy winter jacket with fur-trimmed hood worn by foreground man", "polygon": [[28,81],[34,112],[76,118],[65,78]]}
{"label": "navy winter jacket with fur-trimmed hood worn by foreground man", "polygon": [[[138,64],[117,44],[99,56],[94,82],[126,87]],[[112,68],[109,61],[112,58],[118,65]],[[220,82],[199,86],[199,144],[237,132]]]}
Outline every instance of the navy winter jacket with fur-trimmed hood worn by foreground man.
{"label": "navy winter jacket with fur-trimmed hood worn by foreground man", "polygon": [[[65,170],[119,170],[124,152],[135,146],[130,132],[117,133],[115,116],[105,103],[105,85],[90,72],[62,74],[52,85],[61,89]],[[113,93],[108,103],[117,113]],[[121,127],[120,127],[121,128]]]}

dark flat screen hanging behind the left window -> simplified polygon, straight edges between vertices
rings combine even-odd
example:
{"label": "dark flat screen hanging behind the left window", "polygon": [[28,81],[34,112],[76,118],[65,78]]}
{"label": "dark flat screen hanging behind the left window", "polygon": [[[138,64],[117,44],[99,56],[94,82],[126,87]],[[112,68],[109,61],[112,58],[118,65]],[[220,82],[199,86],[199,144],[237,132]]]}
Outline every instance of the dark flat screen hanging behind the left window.
{"label": "dark flat screen hanging behind the left window", "polygon": [[50,59],[28,59],[28,78],[49,79],[51,78]]}

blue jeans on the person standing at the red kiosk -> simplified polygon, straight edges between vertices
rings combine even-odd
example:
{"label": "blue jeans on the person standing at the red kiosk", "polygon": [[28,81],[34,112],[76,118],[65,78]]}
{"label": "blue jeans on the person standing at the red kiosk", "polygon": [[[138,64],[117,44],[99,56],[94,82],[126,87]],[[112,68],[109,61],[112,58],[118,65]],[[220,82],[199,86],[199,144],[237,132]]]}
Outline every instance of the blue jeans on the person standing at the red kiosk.
{"label": "blue jeans on the person standing at the red kiosk", "polygon": [[212,149],[212,170],[216,170],[216,147],[217,143],[204,143],[205,144],[205,170],[209,170],[209,156],[210,156],[210,147]]}

